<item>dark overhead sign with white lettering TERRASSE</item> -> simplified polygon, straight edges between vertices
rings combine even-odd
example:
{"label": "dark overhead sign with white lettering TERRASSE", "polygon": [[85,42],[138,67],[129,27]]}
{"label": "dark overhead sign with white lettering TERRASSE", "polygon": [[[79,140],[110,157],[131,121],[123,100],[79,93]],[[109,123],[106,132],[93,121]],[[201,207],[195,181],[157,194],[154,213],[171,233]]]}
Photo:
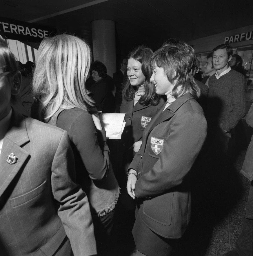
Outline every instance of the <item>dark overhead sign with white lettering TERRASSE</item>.
{"label": "dark overhead sign with white lettering TERRASSE", "polygon": [[34,23],[0,17],[0,34],[5,35],[8,39],[40,42],[49,35],[56,35],[57,30]]}

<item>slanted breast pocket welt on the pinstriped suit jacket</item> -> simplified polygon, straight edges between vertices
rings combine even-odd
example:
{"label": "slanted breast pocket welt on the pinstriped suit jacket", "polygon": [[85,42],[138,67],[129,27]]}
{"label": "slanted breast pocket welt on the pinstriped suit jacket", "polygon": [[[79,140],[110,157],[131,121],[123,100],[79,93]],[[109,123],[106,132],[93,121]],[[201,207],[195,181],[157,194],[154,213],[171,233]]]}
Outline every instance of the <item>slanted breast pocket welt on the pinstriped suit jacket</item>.
{"label": "slanted breast pocket welt on the pinstriped suit jacket", "polygon": [[13,208],[13,207],[20,206],[20,205],[27,203],[28,201],[34,199],[35,197],[37,197],[39,194],[42,193],[45,186],[46,186],[46,180],[42,184],[40,184],[38,187],[34,188],[33,190],[31,190],[21,196],[11,198],[10,199],[11,207]]}

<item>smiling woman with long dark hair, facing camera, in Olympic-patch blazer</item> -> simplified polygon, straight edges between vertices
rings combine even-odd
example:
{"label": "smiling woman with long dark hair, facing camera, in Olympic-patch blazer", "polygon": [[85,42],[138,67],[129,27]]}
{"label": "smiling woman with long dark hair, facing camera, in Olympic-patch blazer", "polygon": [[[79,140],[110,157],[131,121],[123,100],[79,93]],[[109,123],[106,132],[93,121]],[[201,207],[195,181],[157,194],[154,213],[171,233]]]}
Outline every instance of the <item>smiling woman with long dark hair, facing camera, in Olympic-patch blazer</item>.
{"label": "smiling woman with long dark hair, facing camera, in Olympic-patch blazer", "polygon": [[[142,133],[152,120],[156,110],[165,100],[155,93],[149,81],[152,70],[150,59],[153,51],[145,46],[138,46],[128,55],[127,76],[123,81],[122,104],[120,113],[125,113],[125,129],[118,147],[118,161],[121,175],[125,172],[134,155],[141,147]],[[123,183],[125,186],[125,182]]]}

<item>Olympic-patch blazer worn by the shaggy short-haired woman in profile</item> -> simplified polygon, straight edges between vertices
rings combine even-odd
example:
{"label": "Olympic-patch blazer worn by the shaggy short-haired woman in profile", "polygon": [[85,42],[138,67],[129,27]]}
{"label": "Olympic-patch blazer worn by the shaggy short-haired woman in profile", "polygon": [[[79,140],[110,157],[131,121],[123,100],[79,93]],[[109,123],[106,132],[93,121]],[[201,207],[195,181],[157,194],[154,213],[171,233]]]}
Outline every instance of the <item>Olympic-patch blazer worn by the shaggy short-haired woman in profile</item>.
{"label": "Olympic-patch blazer worn by the shaggy short-haired woman in profile", "polygon": [[142,223],[162,237],[179,238],[190,219],[189,171],[204,143],[207,124],[190,93],[163,111],[164,107],[144,130],[141,149],[129,169],[137,171],[136,214]]}

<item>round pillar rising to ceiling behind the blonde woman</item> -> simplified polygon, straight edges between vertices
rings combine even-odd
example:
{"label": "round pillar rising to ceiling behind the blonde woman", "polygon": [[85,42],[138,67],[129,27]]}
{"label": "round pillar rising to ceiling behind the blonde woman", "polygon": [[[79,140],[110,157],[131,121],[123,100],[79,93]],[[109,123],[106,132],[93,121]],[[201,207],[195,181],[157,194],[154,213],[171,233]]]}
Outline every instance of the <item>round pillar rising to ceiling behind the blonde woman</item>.
{"label": "round pillar rising to ceiling behind the blonde woman", "polygon": [[107,75],[116,72],[115,21],[99,19],[91,22],[94,61],[103,62]]}

